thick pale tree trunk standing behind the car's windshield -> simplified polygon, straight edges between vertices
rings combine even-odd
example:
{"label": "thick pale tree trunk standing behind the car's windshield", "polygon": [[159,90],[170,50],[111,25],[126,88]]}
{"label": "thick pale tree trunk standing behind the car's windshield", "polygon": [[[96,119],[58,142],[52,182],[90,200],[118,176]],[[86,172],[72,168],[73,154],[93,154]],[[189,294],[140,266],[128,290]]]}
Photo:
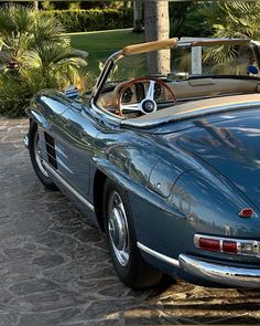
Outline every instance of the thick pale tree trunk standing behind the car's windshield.
{"label": "thick pale tree trunk standing behind the car's windshield", "polygon": [[[169,39],[169,1],[145,1],[144,7],[145,41]],[[170,50],[148,53],[148,70],[150,74],[166,74],[170,72]]]}

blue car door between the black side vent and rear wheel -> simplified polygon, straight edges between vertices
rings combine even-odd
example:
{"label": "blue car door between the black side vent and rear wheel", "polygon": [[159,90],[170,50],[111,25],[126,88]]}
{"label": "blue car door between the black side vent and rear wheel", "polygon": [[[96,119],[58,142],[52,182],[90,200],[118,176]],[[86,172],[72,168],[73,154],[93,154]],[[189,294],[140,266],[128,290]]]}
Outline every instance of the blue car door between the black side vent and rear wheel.
{"label": "blue car door between the black side vent and rear wheel", "polygon": [[89,193],[93,139],[98,134],[90,115],[82,105],[71,106],[52,125],[55,135],[57,171],[84,198]]}

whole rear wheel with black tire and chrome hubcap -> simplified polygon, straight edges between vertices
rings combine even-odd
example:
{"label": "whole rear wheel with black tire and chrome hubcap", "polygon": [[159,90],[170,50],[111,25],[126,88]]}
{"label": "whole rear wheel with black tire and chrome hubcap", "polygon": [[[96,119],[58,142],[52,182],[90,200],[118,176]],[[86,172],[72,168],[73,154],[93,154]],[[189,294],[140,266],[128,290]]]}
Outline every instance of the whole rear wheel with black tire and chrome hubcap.
{"label": "whole rear wheel with black tire and chrome hubcap", "polygon": [[134,290],[156,285],[163,273],[148,264],[138,246],[127,192],[107,180],[104,193],[105,231],[119,278]]}

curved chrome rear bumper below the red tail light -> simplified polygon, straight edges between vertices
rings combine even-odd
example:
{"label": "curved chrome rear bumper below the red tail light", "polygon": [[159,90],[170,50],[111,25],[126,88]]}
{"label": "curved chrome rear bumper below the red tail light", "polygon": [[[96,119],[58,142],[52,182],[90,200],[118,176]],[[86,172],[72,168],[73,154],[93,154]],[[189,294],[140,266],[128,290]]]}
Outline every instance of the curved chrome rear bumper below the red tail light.
{"label": "curved chrome rear bumper below the red tail light", "polygon": [[260,287],[260,269],[243,269],[202,261],[180,254],[180,267],[191,276],[230,287]]}

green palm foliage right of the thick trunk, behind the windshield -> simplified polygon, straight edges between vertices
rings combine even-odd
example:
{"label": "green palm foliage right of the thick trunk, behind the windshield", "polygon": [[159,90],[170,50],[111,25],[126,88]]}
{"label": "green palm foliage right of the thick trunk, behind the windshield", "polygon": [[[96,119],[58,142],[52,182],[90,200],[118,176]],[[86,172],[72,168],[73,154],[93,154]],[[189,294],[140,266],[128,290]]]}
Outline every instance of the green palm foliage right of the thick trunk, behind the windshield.
{"label": "green palm foliage right of the thick trunk, behind the windshield", "polygon": [[[259,1],[208,1],[170,3],[171,36],[260,39]],[[237,46],[214,46],[204,60],[218,69],[236,60]],[[250,54],[249,54],[250,55]]]}

